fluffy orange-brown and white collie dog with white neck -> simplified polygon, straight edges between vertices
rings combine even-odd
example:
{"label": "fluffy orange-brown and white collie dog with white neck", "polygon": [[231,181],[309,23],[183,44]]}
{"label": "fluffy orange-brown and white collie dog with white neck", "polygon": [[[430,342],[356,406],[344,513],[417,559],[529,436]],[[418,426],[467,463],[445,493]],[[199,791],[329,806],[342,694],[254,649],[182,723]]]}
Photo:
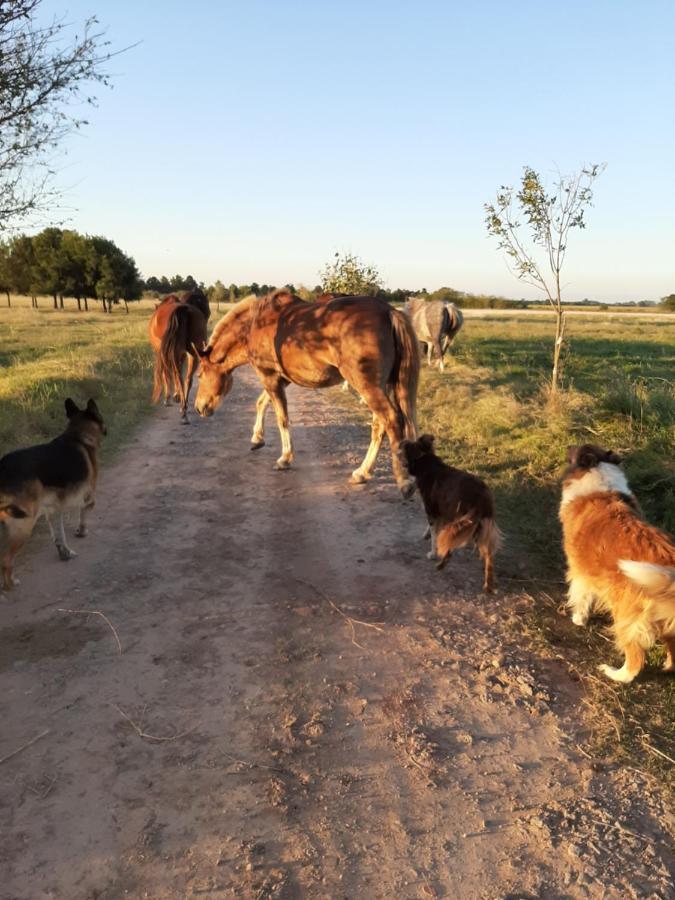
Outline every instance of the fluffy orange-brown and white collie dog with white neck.
{"label": "fluffy orange-brown and white collie dog with white neck", "polygon": [[575,625],[591,609],[609,612],[620,669],[602,665],[614,681],[628,683],[657,641],[666,646],[664,669],[675,670],[675,545],[645,522],[619,468],[620,459],[593,444],[570,447],[563,476],[563,527],[568,605]]}

